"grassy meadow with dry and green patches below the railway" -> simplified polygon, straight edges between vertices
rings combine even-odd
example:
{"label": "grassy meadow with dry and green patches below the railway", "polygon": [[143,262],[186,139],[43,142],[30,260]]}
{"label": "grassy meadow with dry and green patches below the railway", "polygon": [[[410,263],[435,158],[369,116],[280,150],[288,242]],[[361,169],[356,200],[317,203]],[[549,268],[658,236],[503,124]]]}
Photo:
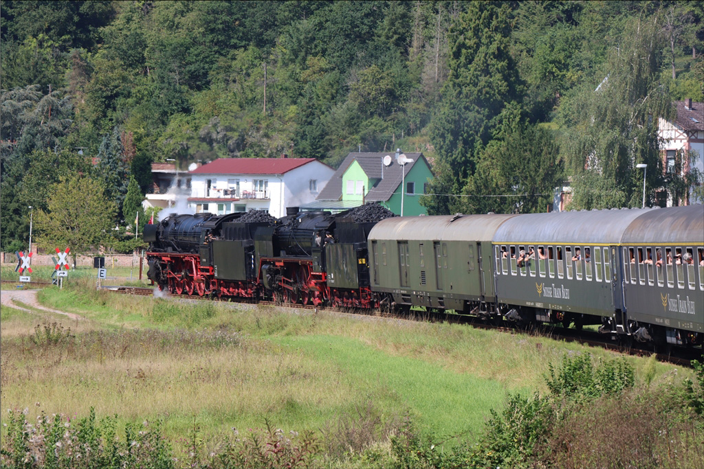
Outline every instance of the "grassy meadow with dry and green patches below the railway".
{"label": "grassy meadow with dry and green patches below the railway", "polygon": [[[506,392],[545,391],[548,364],[565,353],[613,356],[469,326],[191,304],[97,291],[92,278],[76,283],[82,288],[47,288],[39,297],[81,321],[2,308],[3,423],[5,409],[27,409],[32,420],[42,411],[85,416],[93,406],[122,423],[163,420],[181,452],[194,425],[208,451],[232,428],[261,428],[265,418],[338,439],[340,429],[357,428],[339,442],[350,447],[409,419],[422,432],[472,441]],[[640,382],[691,374],[627,360]]]}

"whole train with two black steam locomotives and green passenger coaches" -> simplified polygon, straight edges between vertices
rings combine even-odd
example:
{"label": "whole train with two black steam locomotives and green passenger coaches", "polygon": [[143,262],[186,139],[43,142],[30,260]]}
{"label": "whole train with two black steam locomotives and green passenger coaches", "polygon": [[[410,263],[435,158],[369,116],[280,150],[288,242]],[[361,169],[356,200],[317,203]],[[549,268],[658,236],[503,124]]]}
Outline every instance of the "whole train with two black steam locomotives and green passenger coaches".
{"label": "whole train with two black steam locomotives and green passenger coaches", "polygon": [[425,307],[596,324],[680,347],[704,342],[703,205],[367,219],[251,213],[173,214],[147,225],[149,278],[179,294]]}

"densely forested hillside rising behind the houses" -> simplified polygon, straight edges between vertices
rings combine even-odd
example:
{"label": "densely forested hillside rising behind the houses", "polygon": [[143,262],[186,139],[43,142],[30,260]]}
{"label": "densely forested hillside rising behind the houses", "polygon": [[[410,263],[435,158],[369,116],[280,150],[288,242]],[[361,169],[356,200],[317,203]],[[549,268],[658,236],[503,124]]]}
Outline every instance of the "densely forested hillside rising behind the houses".
{"label": "densely forested hillside rising behind the houses", "polygon": [[672,100],[704,101],[702,1],[0,9],[3,250],[25,245],[26,207],[50,218],[76,177],[105,193],[108,226],[131,223],[125,200],[166,159],[287,153],[337,167],[352,150],[400,147],[433,162],[434,214],[543,211],[568,176],[575,207],[639,205],[638,163],[650,201],[686,182],[650,170],[662,165],[653,122]]}

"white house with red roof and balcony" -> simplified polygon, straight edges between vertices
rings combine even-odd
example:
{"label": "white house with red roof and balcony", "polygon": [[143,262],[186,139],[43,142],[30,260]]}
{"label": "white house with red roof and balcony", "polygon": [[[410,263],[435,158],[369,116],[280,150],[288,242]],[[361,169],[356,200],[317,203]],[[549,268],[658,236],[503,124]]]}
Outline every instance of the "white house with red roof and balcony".
{"label": "white house with red roof and balcony", "polygon": [[332,174],[315,158],[220,158],[189,172],[188,205],[196,213],[256,209],[284,217],[287,207],[313,202]]}

